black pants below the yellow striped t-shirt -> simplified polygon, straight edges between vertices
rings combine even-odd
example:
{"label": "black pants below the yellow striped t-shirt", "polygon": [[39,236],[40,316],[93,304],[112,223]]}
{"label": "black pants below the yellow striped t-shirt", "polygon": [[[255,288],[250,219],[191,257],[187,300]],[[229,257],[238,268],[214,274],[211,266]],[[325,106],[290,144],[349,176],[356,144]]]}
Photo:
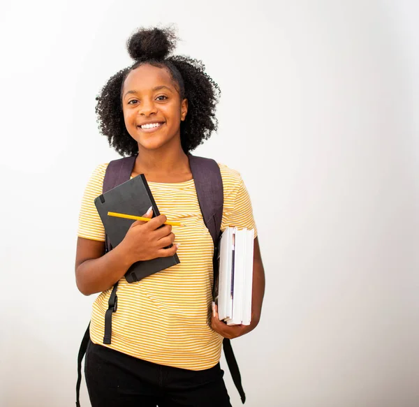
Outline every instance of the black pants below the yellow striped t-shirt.
{"label": "black pants below the yellow striped t-shirt", "polygon": [[219,364],[178,369],[89,341],[84,374],[92,407],[231,407]]}

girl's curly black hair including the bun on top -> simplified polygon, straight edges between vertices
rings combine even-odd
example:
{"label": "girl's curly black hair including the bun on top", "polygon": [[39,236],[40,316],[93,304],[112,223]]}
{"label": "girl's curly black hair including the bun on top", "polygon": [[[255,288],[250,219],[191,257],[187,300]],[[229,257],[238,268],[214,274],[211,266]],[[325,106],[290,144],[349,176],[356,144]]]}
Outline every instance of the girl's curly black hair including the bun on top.
{"label": "girl's curly black hair including the bun on top", "polygon": [[176,36],[171,28],[140,29],[127,41],[128,53],[135,63],[124,68],[105,84],[96,98],[99,131],[122,156],[138,154],[138,144],[126,130],[122,112],[122,87],[128,73],[142,64],[166,68],[177,84],[180,98],[188,99],[188,113],[180,124],[182,149],[189,153],[216,131],[216,103],[221,91],[205,73],[202,61],[184,56],[169,56]]}

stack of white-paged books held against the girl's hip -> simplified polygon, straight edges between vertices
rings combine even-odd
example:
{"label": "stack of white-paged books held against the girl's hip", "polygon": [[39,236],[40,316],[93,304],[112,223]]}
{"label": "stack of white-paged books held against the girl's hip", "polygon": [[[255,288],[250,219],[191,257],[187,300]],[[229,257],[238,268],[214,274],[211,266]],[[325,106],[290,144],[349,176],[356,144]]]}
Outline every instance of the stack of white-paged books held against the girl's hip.
{"label": "stack of white-paged books held against the girl's hip", "polygon": [[250,325],[254,230],[226,228],[219,242],[214,301],[227,325]]}

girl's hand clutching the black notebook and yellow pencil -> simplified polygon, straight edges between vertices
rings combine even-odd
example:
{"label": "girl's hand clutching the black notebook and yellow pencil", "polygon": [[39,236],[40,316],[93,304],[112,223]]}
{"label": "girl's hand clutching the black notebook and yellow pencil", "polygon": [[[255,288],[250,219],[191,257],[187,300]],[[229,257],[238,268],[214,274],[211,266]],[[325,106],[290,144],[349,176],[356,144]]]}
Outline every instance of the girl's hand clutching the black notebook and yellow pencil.
{"label": "girl's hand clutching the black notebook and yellow pencil", "polygon": [[[153,210],[149,209],[142,217],[152,218]],[[177,244],[170,246],[175,241],[172,226],[164,225],[166,216],[160,215],[151,221],[135,221],[126,232],[121,244],[124,246],[126,256],[134,262],[150,260],[152,258],[169,257],[177,252]]]}

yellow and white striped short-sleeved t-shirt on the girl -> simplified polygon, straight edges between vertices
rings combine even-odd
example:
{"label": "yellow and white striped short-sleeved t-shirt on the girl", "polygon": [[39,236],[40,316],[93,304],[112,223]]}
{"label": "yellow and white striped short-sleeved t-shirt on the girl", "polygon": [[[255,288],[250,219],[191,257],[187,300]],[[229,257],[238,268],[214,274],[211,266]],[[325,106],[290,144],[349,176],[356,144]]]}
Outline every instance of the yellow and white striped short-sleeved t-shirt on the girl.
{"label": "yellow and white striped short-sleeved t-shirt on the girl", "polygon": [[[102,193],[108,164],[98,165],[85,188],[78,236],[105,241],[94,205]],[[221,230],[228,225],[254,228],[251,202],[240,174],[219,164],[224,207]],[[96,298],[91,341],[142,360],[189,370],[213,367],[221,355],[222,337],[210,327],[214,244],[200,212],[193,179],[175,184],[149,182],[156,205],[173,226],[180,263],[138,281],[119,281],[118,309],[112,314],[112,343],[103,345],[105,311],[112,288]]]}

